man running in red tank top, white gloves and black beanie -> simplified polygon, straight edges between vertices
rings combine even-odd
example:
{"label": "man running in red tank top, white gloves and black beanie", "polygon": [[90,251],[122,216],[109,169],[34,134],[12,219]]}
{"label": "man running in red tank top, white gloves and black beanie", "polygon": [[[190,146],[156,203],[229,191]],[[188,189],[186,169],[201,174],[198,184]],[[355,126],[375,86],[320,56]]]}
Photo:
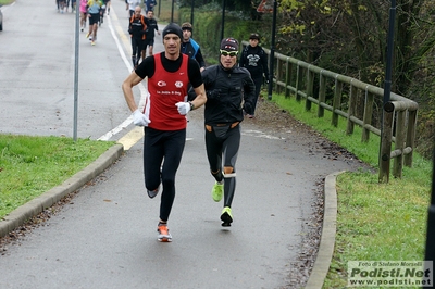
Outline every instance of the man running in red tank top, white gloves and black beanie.
{"label": "man running in red tank top, white gloves and black beanie", "polygon": [[[144,126],[144,173],[148,196],[154,198],[162,183],[158,240],[172,241],[167,219],[175,198],[175,175],[186,141],[186,114],[207,101],[198,63],[181,53],[182,28],[163,29],[164,52],[146,58],[124,80],[122,89],[134,124]],[[148,77],[149,97],[144,111],[137,108],[133,87]],[[188,84],[197,97],[187,101]],[[162,165],[163,162],[163,165]]]}

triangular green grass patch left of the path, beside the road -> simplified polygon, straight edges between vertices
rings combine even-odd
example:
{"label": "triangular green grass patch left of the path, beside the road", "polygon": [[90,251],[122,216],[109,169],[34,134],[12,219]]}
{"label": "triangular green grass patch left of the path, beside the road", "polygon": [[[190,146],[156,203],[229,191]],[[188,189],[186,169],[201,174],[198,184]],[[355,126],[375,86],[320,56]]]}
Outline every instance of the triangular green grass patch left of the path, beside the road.
{"label": "triangular green grass patch left of the path, beside the road", "polygon": [[97,160],[112,141],[0,135],[0,219]]}

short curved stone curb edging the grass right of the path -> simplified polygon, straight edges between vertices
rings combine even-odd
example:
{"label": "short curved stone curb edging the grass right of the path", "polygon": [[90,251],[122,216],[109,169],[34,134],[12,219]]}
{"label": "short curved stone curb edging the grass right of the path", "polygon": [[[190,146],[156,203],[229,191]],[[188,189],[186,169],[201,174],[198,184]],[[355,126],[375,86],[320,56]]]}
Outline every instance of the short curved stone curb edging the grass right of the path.
{"label": "short curved stone curb edging the grass right of the path", "polygon": [[318,256],[304,287],[306,289],[321,289],[325,281],[327,271],[330,269],[337,229],[337,190],[335,185],[337,176],[343,173],[344,171],[336,172],[327,175],[325,178],[322,236],[320,239]]}

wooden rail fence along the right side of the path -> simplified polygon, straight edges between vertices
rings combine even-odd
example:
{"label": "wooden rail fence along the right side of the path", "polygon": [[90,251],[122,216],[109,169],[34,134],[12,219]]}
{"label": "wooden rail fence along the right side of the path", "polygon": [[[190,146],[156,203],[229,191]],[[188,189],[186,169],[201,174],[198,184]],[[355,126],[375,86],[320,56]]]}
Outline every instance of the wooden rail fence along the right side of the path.
{"label": "wooden rail fence along the right side of the path", "polygon": [[[249,45],[247,41],[241,43],[243,47]],[[264,51],[270,55],[269,49],[264,48]],[[355,125],[359,125],[362,127],[362,142],[369,141],[371,133],[380,136],[381,183],[389,180],[391,159],[394,177],[401,178],[403,165],[412,166],[419,109],[417,102],[391,92],[390,101],[382,105],[384,89],[276,52],[273,90],[284,93],[285,97],[293,95],[298,101],[304,101],[308,111],[311,110],[312,103],[318,104],[318,117],[324,116],[324,110],[331,111],[331,124],[335,127],[338,125],[338,118],[344,117],[347,121],[348,135],[353,134]],[[380,103],[383,108],[376,113]],[[361,111],[361,115],[358,116],[357,112]],[[382,117],[373,120],[378,115]],[[393,142],[395,148],[391,151]]]}

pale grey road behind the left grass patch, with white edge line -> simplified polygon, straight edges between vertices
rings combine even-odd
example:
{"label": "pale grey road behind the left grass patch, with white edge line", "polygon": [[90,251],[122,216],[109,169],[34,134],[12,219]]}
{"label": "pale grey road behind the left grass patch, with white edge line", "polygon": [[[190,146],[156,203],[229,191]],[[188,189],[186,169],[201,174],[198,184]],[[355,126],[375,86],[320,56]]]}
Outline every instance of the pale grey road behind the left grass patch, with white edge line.
{"label": "pale grey road behind the left grass patch, with white edge line", "polygon": [[[97,45],[79,34],[77,135],[98,139],[126,126],[121,84],[132,71],[128,13],[113,1]],[[54,0],[3,7],[0,34],[0,133],[73,136],[75,14],[57,13]],[[24,20],[24,21],[23,21]],[[162,49],[160,36],[157,49]],[[121,52],[121,53],[120,53]],[[138,97],[140,91],[137,89]],[[119,134],[119,133],[117,133]],[[112,137],[112,136],[111,136]],[[114,137],[116,138],[116,136]]]}

